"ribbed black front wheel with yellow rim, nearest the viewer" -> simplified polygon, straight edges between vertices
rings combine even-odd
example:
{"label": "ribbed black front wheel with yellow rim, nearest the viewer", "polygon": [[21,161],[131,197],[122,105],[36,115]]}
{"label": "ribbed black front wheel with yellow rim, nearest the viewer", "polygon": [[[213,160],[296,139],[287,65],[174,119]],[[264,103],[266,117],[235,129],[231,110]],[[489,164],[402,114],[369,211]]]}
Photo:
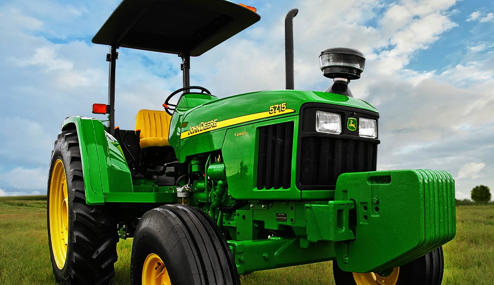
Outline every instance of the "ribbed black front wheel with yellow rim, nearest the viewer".
{"label": "ribbed black front wheel with yellow rim, nearest the viewer", "polygon": [[144,214],[132,245],[133,285],[240,285],[223,234],[204,212],[166,205]]}

